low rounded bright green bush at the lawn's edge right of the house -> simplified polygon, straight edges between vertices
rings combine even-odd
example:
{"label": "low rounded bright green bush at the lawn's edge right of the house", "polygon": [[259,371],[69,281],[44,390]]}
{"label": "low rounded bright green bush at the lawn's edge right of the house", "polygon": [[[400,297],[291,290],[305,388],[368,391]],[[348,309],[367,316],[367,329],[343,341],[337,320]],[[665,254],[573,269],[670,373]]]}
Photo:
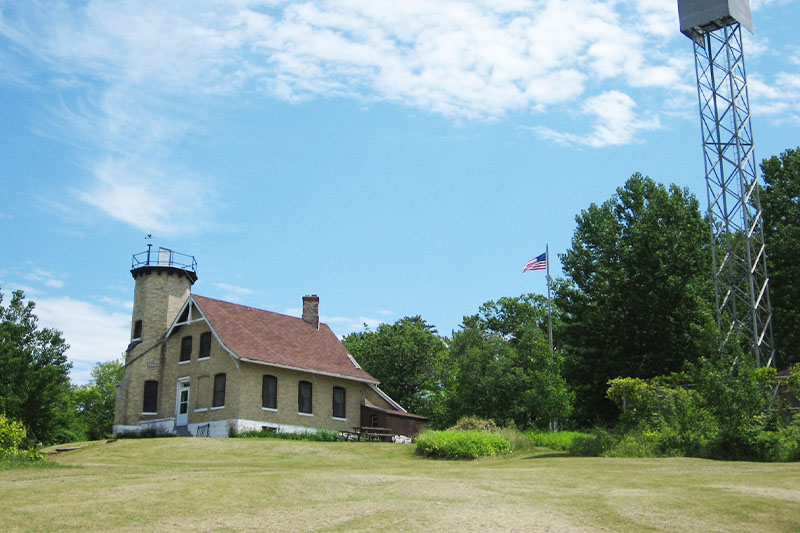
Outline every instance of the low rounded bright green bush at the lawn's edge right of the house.
{"label": "low rounded bright green bush at the lawn's edge right of the house", "polygon": [[440,459],[477,459],[511,452],[508,437],[473,430],[426,431],[417,437],[417,453]]}

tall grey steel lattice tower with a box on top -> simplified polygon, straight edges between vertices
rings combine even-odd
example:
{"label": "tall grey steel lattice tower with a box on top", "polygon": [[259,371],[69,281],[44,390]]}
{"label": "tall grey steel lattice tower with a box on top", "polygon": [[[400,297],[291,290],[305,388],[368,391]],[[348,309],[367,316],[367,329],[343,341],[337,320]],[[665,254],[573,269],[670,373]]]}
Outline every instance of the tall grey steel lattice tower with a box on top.
{"label": "tall grey steel lattice tower with a box on top", "polygon": [[723,344],[735,332],[758,366],[772,366],[772,310],[741,26],[747,0],[678,0],[681,31],[694,41],[697,91]]}

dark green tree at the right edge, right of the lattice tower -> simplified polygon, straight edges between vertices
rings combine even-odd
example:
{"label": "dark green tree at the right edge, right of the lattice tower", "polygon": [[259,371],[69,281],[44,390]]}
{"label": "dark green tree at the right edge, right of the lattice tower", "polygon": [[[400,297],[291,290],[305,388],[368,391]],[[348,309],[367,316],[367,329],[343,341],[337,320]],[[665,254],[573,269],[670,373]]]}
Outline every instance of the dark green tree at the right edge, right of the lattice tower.
{"label": "dark green tree at the right edge, right of the lattice tower", "polygon": [[764,240],[779,366],[800,362],[800,148],[761,163]]}

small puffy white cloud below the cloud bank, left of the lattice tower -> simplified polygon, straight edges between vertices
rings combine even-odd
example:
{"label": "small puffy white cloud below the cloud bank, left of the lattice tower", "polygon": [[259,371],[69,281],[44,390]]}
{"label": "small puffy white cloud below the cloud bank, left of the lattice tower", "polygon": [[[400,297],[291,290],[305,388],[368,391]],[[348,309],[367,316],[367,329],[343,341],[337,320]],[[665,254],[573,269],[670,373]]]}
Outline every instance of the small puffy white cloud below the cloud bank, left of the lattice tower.
{"label": "small puffy white cloud below the cloud bank, left of the lattice tower", "polygon": [[582,111],[591,117],[594,127],[591,133],[578,135],[563,133],[539,126],[533,130],[542,138],[560,144],[583,145],[594,148],[641,142],[639,133],[658,129],[658,117],[635,111],[636,102],[625,93],[607,91],[586,100]]}

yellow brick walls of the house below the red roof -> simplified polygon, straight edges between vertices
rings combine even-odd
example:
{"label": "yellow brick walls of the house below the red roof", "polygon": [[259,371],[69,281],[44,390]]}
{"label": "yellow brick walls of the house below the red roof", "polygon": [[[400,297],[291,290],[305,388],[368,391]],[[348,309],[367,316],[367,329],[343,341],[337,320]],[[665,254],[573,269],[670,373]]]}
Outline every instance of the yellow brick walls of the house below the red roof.
{"label": "yellow brick walls of the house below the red roof", "polygon": [[[260,422],[265,426],[286,425],[345,430],[361,425],[363,403],[391,408],[366,383],[235,360],[213,335],[211,356],[199,360],[200,335],[206,331],[210,331],[210,328],[205,321],[183,325],[173,330],[170,338],[162,345],[150,350],[144,356],[139,353],[139,357],[126,368],[125,380],[119,388],[116,424],[138,425],[142,420],[174,418],[178,380],[187,377],[190,383],[189,424],[242,419]],[[181,342],[185,336],[192,337],[192,354],[189,362],[180,363]],[[139,348],[134,351],[144,350]],[[214,376],[218,373],[226,374],[225,405],[222,409],[211,407]],[[261,407],[264,374],[277,378],[278,394],[275,411],[264,410]],[[148,379],[159,382],[158,413],[154,416],[141,414],[144,382]],[[304,416],[298,412],[300,381],[312,384],[313,416]],[[343,387],[346,391],[346,420],[333,418],[334,386]]]}

